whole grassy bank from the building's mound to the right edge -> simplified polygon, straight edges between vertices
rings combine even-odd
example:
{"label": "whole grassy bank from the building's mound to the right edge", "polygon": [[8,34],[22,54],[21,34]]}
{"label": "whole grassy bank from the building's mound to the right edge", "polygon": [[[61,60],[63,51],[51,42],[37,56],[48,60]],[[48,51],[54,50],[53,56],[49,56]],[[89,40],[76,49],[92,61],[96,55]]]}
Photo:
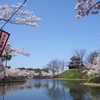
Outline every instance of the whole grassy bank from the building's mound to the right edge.
{"label": "whole grassy bank from the building's mound to the right edge", "polygon": [[88,77],[86,73],[82,73],[84,69],[71,69],[66,70],[59,74],[57,77],[54,78],[54,80],[72,80],[72,81],[85,81],[86,83],[83,83],[81,85],[87,85],[87,86],[100,86],[100,77],[91,76]]}

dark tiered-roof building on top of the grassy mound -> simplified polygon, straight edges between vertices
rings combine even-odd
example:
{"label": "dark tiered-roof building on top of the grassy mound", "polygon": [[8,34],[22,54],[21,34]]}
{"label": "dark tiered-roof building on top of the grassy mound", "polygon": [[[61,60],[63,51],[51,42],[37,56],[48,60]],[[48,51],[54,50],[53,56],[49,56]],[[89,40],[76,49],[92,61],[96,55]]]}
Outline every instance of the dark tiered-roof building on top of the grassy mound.
{"label": "dark tiered-roof building on top of the grassy mound", "polygon": [[77,56],[73,56],[71,58],[71,62],[69,62],[68,67],[69,69],[77,69],[80,67],[83,67],[83,62],[81,61],[81,59]]}

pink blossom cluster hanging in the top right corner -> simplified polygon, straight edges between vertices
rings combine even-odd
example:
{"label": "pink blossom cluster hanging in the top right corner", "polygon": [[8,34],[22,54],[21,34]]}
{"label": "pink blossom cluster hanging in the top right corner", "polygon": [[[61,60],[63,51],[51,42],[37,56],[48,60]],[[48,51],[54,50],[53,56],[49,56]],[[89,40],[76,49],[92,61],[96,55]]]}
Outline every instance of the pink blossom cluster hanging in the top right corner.
{"label": "pink blossom cluster hanging in the top right corner", "polygon": [[89,13],[98,14],[100,9],[100,1],[95,3],[95,0],[77,0],[75,10],[78,11],[76,18],[81,18]]}

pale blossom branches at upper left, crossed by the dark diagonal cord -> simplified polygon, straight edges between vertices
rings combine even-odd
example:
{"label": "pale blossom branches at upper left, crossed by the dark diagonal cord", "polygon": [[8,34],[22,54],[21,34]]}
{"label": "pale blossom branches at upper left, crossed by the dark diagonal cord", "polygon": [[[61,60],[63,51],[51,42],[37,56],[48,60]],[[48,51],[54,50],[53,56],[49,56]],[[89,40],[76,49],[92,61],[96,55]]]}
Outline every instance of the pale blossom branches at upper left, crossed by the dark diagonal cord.
{"label": "pale blossom branches at upper left, crossed by the dark diagonal cord", "polygon": [[[22,5],[22,3],[17,3],[17,5],[8,6],[0,5],[0,20],[8,21],[8,19],[17,11],[17,9]],[[25,5],[23,5],[25,6]],[[15,17],[17,16],[17,17]],[[12,24],[25,24],[29,26],[37,27],[37,22],[40,21],[41,18],[37,17],[33,12],[29,10],[19,10],[14,14],[14,18],[9,20],[9,23]]]}

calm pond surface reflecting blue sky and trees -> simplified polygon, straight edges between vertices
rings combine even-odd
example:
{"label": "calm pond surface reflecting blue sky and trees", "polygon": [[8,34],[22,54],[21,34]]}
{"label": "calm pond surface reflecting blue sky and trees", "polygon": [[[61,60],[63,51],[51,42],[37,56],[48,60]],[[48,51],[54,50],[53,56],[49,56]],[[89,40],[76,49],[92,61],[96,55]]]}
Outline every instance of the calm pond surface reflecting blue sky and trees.
{"label": "calm pond surface reflecting blue sky and trees", "polygon": [[29,79],[25,83],[0,84],[0,100],[99,100],[100,87],[79,81]]}

